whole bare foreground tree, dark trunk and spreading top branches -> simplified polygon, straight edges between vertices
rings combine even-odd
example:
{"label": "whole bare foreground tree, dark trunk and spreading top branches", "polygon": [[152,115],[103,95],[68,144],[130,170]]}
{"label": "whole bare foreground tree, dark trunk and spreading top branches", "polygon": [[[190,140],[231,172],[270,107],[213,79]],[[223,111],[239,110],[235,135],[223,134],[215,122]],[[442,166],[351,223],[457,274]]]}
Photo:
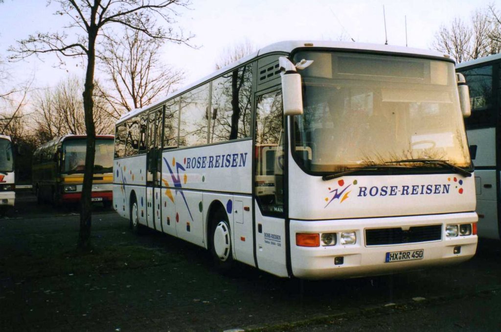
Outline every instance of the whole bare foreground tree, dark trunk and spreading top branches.
{"label": "whole bare foreground tree, dark trunk and spreading top branches", "polygon": [[[91,186],[94,172],[95,125],[94,110],[94,71],[96,64],[96,46],[99,37],[113,25],[128,27],[141,31],[151,38],[165,39],[175,43],[186,43],[189,37],[175,33],[172,25],[173,16],[178,15],[174,9],[187,6],[189,0],[53,0],[60,5],[56,14],[70,18],[70,24],[63,32],[37,33],[18,42],[13,59],[22,59],[31,55],[55,53],[62,57],[81,57],[86,64],[85,88],[83,103],[85,111],[85,128],[87,133],[87,154],[82,188],[80,232],[78,248],[88,251],[91,248],[90,231]],[[162,20],[166,25],[157,24]]]}

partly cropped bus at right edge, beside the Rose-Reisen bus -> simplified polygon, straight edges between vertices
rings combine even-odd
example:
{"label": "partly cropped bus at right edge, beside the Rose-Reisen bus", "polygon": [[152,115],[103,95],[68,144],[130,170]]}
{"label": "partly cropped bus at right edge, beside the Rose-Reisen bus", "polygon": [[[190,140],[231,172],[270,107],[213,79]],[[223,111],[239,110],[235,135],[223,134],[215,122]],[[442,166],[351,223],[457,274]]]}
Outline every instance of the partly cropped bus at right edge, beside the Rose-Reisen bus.
{"label": "partly cropped bus at right edge, beside the Rose-Reisen bus", "polygon": [[478,235],[491,239],[501,238],[500,70],[501,54],[456,66],[470,91],[471,117],[464,124],[475,164]]}

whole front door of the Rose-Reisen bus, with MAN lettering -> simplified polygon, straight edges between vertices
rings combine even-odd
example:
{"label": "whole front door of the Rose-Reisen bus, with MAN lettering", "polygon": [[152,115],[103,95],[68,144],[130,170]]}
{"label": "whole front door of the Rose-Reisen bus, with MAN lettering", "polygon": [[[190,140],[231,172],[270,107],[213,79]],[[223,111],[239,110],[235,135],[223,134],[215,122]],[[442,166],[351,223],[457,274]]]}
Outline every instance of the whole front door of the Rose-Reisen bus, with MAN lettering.
{"label": "whole front door of the Rose-Reisen bus, with MAN lettering", "polygon": [[255,234],[261,270],[287,277],[282,91],[256,98]]}

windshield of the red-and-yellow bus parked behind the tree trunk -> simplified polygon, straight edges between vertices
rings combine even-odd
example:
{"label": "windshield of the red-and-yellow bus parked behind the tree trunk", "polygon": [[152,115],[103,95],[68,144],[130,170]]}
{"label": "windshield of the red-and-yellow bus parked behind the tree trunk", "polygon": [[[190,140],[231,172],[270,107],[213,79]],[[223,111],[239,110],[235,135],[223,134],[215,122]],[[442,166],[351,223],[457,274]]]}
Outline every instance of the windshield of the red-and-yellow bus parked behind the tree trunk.
{"label": "windshield of the red-and-yellow bus parked behind the tree trunk", "polygon": [[[113,172],[113,139],[96,139],[94,174]],[[63,173],[84,173],[86,140],[68,139],[64,142]]]}

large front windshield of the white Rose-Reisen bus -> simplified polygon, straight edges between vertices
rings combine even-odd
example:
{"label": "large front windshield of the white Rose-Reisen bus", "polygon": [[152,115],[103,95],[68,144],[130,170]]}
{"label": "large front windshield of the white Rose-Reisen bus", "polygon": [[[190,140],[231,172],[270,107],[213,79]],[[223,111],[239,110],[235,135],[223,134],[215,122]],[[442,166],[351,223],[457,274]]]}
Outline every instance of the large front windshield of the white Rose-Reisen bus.
{"label": "large front windshield of the white Rose-Reisen bus", "polygon": [[294,118],[293,148],[307,171],[424,158],[470,167],[453,63],[334,52],[294,57],[302,59],[314,62],[301,71],[304,113]]}

